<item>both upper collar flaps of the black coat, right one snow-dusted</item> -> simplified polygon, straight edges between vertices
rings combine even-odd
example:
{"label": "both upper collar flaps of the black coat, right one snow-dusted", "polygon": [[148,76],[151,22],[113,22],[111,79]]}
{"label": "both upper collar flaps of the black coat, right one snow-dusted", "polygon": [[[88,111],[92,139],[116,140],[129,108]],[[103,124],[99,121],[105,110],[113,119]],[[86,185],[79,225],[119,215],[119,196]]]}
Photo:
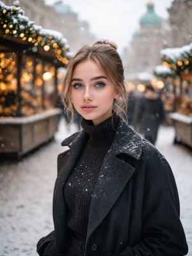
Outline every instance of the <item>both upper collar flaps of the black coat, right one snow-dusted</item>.
{"label": "both upper collar flaps of the black coat, right one snow-dusted", "polygon": [[[69,148],[76,148],[82,145],[86,139],[86,132],[76,132],[70,137],[65,139],[61,145]],[[127,154],[134,159],[140,159],[142,147],[141,137],[129,127],[124,120],[120,119],[118,126],[116,127],[116,134],[111,145],[111,153],[114,155]]]}

